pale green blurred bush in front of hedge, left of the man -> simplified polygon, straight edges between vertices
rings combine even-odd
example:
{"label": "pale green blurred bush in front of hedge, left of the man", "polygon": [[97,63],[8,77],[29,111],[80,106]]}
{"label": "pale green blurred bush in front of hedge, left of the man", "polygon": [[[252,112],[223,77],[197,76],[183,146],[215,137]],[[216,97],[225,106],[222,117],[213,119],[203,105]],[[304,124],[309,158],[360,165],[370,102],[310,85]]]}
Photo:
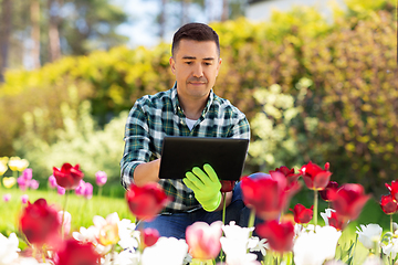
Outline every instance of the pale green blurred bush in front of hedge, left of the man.
{"label": "pale green blurred bush in front of hedge, left of the man", "polygon": [[[76,88],[70,89],[71,102],[77,100]],[[73,105],[73,104],[72,104]],[[25,123],[24,137],[14,141],[18,153],[30,162],[36,179],[42,183],[52,174],[52,168],[69,161],[80,163],[87,181],[94,182],[95,173],[104,171],[108,176],[108,187],[113,183],[118,187],[117,194],[124,193],[119,184],[119,161],[124,147],[124,126],[127,112],[122,112],[104,129],[98,129],[91,116],[91,103],[84,100],[77,109],[63,103],[61,105],[63,128],[52,130],[49,144],[41,136],[48,128],[48,114],[45,108],[36,108],[33,114],[23,115]],[[77,112],[76,112],[77,110]]]}

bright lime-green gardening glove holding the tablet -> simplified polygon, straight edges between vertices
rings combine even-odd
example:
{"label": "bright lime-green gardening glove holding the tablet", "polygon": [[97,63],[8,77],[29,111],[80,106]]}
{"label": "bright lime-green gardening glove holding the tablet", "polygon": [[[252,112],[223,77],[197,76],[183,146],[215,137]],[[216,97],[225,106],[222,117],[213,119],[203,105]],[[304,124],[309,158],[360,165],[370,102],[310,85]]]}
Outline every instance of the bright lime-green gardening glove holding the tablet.
{"label": "bright lime-green gardening glove holding the tablet", "polygon": [[[203,171],[205,170],[205,171]],[[208,211],[214,211],[221,202],[221,183],[213,168],[206,163],[203,170],[198,167],[186,172],[184,183],[193,191],[195,198]]]}

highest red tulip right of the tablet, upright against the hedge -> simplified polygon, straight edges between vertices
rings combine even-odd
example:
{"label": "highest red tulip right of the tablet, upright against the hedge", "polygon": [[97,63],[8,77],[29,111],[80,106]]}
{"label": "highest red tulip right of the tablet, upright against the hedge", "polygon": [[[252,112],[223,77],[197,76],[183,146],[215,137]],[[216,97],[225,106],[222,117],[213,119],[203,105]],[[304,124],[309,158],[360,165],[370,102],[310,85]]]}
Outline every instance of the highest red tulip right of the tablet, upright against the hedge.
{"label": "highest red tulip right of the tablet, upright against the hedge", "polygon": [[310,190],[323,190],[329,182],[332,172],[328,171],[329,163],[325,163],[325,169],[310,161],[304,165],[300,172],[303,176],[304,183]]}

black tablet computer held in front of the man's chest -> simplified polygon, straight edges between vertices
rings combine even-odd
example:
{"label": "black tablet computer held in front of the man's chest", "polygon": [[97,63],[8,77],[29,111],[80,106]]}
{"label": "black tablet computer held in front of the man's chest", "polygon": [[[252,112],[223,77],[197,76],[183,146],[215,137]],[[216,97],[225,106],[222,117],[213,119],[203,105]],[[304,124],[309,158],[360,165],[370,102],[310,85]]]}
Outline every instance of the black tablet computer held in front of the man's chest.
{"label": "black tablet computer held in front of the man's chest", "polygon": [[248,139],[166,136],[160,179],[182,179],[193,167],[209,163],[221,180],[239,180],[249,147]]}

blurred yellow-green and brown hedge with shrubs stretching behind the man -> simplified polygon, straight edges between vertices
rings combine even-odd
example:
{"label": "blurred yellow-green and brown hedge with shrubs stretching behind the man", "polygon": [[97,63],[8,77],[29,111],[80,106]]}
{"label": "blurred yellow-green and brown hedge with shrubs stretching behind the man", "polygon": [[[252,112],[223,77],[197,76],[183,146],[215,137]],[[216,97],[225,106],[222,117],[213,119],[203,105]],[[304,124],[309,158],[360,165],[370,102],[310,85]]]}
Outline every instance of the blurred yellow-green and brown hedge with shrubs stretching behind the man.
{"label": "blurred yellow-green and brown hedge with shrubs stretching behind the man", "polygon": [[[385,192],[397,178],[397,20],[391,0],[346,0],[326,21],[315,9],[268,22],[212,23],[222,67],[214,92],[247,114],[245,173],[331,162],[332,179]],[[122,19],[122,17],[121,17]],[[135,99],[168,89],[170,43],[116,46],[9,71],[0,85],[0,156],[30,160],[35,178],[81,163],[118,182],[124,124]]]}

